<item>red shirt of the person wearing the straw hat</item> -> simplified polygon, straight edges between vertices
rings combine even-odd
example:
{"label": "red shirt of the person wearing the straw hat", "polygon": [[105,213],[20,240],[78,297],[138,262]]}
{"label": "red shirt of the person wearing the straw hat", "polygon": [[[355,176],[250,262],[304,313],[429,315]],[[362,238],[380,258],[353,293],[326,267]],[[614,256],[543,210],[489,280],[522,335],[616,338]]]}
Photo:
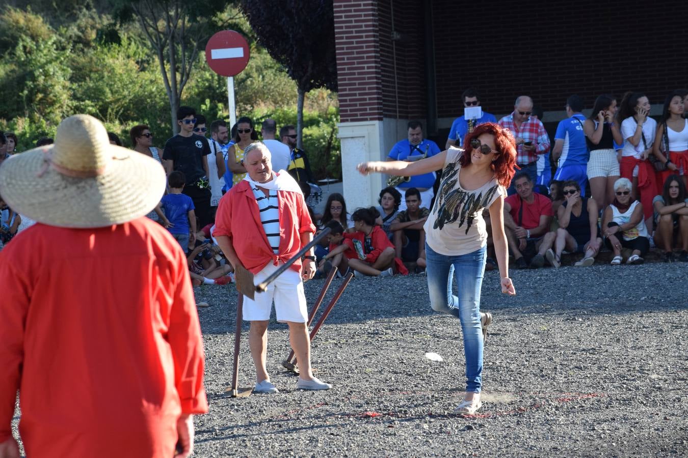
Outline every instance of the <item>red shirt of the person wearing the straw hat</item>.
{"label": "red shirt of the person wearing the straw hat", "polygon": [[0,442],[29,457],[172,457],[208,411],[186,258],[148,218],[36,224],[0,253]]}

